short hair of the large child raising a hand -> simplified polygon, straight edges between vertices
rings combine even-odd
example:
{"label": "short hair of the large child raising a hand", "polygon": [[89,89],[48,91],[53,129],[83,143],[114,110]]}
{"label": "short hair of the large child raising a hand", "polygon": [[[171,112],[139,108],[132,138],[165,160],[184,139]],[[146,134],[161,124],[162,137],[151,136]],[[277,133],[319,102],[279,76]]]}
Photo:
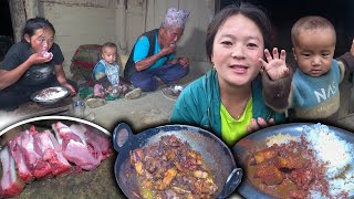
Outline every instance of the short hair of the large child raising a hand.
{"label": "short hair of the large child raising a hand", "polygon": [[296,38],[302,31],[314,31],[314,30],[321,30],[321,29],[332,30],[334,41],[335,41],[336,33],[333,24],[327,19],[320,15],[309,15],[309,17],[299,19],[291,29],[291,41],[293,45],[295,45]]}

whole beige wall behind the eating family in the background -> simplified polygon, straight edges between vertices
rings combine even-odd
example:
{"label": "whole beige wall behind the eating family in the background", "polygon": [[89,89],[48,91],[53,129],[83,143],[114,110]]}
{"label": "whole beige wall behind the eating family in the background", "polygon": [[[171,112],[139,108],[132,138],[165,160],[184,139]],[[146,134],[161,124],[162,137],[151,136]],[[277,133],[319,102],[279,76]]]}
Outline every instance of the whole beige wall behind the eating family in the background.
{"label": "whole beige wall behind the eating family in the background", "polygon": [[20,1],[28,7],[22,11],[27,18],[38,13],[53,23],[55,42],[64,53],[64,70],[69,77],[71,59],[79,45],[112,41],[119,46],[121,53],[129,54],[137,36],[158,28],[169,7],[191,11],[178,43],[178,55],[206,61],[204,43],[208,22],[214,14],[214,0]]}

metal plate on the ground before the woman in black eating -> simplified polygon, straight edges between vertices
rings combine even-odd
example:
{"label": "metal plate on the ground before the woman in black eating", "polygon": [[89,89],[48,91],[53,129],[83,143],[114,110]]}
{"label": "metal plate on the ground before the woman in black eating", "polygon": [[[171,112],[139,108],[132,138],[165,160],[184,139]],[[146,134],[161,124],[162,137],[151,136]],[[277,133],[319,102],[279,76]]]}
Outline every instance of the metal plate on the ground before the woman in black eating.
{"label": "metal plate on the ground before the woman in black eating", "polygon": [[[46,91],[52,91],[52,92],[49,92],[48,94],[50,95],[51,93],[54,93],[54,92],[63,92],[62,95],[55,97],[55,98],[50,98],[50,100],[40,100],[39,96],[42,95],[44,92]],[[64,93],[65,92],[65,93]],[[41,90],[41,91],[38,91],[35,93],[33,93],[31,95],[31,100],[39,103],[39,104],[43,104],[43,105],[51,105],[51,104],[55,104],[55,103],[59,103],[61,102],[63,98],[65,98],[66,96],[69,96],[71,93],[71,91],[65,87],[65,86],[54,86],[54,87],[46,87],[44,90]]]}

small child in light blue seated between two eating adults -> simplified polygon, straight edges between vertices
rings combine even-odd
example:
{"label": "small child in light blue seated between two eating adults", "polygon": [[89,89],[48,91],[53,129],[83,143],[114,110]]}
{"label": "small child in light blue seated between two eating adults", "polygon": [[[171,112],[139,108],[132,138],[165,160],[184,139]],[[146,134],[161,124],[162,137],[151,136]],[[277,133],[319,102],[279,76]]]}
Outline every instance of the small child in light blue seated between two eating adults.
{"label": "small child in light blue seated between two eating adults", "polygon": [[102,59],[93,69],[93,78],[101,82],[104,87],[117,87],[122,69],[116,63],[116,44],[112,42],[104,43],[101,49],[101,56]]}

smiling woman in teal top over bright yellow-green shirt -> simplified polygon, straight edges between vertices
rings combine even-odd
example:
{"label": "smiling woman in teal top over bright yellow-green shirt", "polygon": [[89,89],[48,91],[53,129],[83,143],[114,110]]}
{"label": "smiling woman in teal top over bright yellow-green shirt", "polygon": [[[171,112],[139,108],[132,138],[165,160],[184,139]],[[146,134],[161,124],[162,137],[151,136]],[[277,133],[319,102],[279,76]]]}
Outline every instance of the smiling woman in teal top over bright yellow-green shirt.
{"label": "smiling woman in teal top over bright yellow-green shirt", "polygon": [[215,70],[181,92],[170,122],[209,129],[230,147],[249,132],[284,122],[262,96],[260,60],[271,33],[264,12],[250,3],[217,13],[206,41]]}

